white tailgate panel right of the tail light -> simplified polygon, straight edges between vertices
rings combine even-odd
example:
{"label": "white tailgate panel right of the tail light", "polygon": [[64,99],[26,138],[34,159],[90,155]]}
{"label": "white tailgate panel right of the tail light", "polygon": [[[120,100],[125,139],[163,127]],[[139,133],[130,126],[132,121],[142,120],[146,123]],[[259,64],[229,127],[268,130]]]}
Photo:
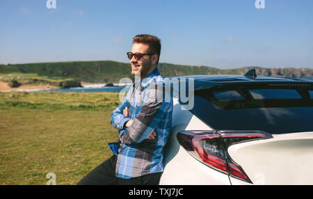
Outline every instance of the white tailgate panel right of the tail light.
{"label": "white tailgate panel right of the tail light", "polygon": [[230,146],[228,153],[253,184],[313,184],[313,132],[239,143]]}

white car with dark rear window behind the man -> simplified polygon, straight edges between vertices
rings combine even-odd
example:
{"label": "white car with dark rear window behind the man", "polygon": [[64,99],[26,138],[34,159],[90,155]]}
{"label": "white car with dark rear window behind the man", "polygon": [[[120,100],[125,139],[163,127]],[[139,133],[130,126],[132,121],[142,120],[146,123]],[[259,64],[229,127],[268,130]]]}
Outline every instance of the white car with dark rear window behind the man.
{"label": "white car with dark rear window behind the man", "polygon": [[159,184],[313,184],[313,81],[182,78],[194,79],[194,104],[174,98]]}

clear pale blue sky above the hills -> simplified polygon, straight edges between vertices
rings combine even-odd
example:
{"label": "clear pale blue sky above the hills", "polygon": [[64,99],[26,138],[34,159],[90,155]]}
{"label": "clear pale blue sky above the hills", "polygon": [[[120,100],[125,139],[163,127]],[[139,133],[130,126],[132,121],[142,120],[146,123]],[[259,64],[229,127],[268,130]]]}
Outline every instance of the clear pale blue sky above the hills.
{"label": "clear pale blue sky above the hills", "polygon": [[128,63],[147,33],[161,39],[160,63],[313,68],[312,0],[54,1],[0,0],[1,64]]}

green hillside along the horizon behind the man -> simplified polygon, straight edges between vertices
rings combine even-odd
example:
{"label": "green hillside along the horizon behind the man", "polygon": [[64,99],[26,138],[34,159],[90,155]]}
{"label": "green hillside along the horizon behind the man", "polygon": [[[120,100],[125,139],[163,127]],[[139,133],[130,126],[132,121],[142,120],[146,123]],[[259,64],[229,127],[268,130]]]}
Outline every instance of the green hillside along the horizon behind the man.
{"label": "green hillside along the horizon behind the man", "polygon": [[[244,74],[252,67],[241,67],[221,70],[207,66],[175,65],[159,63],[159,70],[163,77],[177,77],[192,74]],[[273,77],[313,78],[313,69],[309,68],[264,68],[253,67],[257,75]],[[86,81],[90,83],[118,83],[120,79],[131,75],[129,63],[116,61],[71,61],[55,63],[25,63],[0,65],[0,81],[28,79],[31,83],[53,81],[57,83],[67,81]],[[27,78],[26,78],[27,76]],[[9,78],[10,77],[10,78]],[[45,78],[44,78],[45,77]],[[63,83],[64,84],[64,83]]]}

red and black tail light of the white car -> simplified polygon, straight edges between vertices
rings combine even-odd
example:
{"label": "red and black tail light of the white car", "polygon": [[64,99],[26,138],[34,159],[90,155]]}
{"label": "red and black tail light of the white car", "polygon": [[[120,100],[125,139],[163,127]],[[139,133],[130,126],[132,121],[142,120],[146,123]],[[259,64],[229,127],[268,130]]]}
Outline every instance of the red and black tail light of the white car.
{"label": "red and black tail light of the white car", "polygon": [[252,182],[248,175],[232,160],[227,148],[236,143],[267,138],[273,136],[260,131],[193,131],[177,134],[179,144],[203,164],[249,183]]}

